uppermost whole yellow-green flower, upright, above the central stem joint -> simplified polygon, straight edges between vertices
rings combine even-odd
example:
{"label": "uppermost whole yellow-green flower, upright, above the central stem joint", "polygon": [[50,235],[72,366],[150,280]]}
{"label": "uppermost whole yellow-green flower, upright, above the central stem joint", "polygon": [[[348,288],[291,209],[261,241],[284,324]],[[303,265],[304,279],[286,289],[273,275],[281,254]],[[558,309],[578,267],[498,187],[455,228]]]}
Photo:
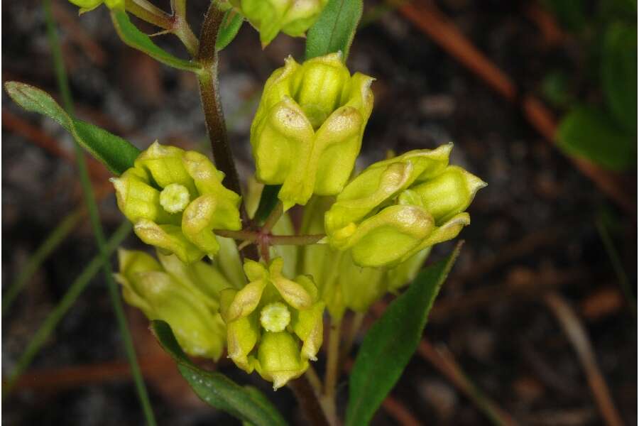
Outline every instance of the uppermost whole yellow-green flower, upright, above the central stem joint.
{"label": "uppermost whole yellow-green flower, upright, above the central stem joint", "polygon": [[282,185],[285,209],[346,185],[373,108],[373,79],[350,75],[341,54],[293,58],[264,87],[251,125],[256,177]]}

